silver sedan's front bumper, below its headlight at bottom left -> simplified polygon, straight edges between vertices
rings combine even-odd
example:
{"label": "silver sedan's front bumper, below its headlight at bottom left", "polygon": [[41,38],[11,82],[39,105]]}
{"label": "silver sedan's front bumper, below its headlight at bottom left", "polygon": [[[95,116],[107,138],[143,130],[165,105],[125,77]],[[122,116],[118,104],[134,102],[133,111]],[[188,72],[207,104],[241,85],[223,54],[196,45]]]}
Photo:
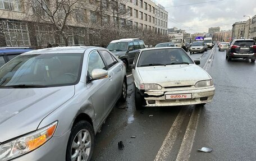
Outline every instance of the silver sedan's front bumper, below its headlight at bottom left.
{"label": "silver sedan's front bumper, below its headlight at bottom left", "polygon": [[60,137],[52,137],[44,145],[40,146],[40,148],[13,159],[13,161],[64,161],[66,160],[66,148],[69,136],[70,131]]}

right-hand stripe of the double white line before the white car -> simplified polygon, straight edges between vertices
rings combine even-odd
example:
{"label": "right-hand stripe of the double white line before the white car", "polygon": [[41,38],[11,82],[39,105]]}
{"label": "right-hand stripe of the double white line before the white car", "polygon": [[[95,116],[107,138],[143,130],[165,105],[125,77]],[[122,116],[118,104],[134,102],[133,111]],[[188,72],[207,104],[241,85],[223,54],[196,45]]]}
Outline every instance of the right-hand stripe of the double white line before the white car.
{"label": "right-hand stripe of the double white line before the white car", "polygon": [[198,121],[202,108],[194,108],[191,114],[189,125],[186,128],[184,138],[182,140],[179,154],[177,155],[176,161],[189,160],[190,152],[192,150],[193,142],[195,139],[196,128],[198,127]]}

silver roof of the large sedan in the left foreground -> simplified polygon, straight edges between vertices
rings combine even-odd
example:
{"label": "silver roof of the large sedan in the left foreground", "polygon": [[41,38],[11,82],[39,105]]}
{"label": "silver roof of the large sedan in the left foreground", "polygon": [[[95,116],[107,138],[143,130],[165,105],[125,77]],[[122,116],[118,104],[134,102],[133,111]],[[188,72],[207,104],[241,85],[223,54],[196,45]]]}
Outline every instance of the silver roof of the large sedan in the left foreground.
{"label": "silver roof of the large sedan in the left foreground", "polygon": [[54,47],[54,48],[31,50],[30,52],[24,53],[24,55],[26,55],[26,54],[52,54],[52,53],[84,53],[85,50],[87,50],[87,49],[94,50],[94,49],[105,49],[105,48],[91,47],[91,46]]}

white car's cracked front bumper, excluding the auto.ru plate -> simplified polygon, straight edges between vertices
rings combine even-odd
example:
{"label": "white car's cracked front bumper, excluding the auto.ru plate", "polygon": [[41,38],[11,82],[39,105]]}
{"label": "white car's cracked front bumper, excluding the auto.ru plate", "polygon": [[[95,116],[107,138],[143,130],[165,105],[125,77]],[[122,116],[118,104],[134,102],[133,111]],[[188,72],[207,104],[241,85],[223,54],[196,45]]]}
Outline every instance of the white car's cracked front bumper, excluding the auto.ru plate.
{"label": "white car's cracked front bumper, excluding the auto.ru plate", "polygon": [[[175,106],[175,105],[191,105],[191,104],[203,104],[212,102],[212,98],[215,93],[214,86],[204,89],[182,90],[182,91],[166,91],[165,93],[152,93],[145,91],[147,97],[145,97],[145,107],[151,106]],[[168,94],[191,94],[189,99],[166,99]],[[153,103],[153,102],[155,103]]]}

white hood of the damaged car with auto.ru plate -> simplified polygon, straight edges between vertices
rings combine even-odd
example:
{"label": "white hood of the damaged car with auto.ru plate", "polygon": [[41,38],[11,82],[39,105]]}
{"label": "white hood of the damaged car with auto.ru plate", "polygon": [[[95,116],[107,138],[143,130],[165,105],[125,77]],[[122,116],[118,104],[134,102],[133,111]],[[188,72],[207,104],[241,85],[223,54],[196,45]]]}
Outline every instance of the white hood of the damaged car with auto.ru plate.
{"label": "white hood of the damaged car with auto.ru plate", "polygon": [[200,80],[211,79],[203,68],[195,64],[140,67],[138,72],[144,84],[162,87],[191,86]]}

